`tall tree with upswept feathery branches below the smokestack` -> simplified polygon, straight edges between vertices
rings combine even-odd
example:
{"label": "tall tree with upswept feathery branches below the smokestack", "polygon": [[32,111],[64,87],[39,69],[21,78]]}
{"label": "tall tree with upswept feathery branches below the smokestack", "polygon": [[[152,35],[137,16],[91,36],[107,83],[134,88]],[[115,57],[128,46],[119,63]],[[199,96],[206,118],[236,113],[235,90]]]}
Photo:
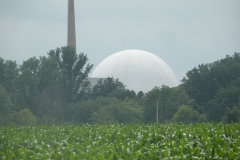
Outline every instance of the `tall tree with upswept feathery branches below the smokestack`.
{"label": "tall tree with upswept feathery branches below the smokestack", "polygon": [[88,63],[87,55],[77,55],[73,47],[57,48],[48,53],[49,58],[55,60],[57,69],[61,73],[58,80],[64,85],[64,97],[68,102],[88,98],[90,82],[86,80],[93,65]]}

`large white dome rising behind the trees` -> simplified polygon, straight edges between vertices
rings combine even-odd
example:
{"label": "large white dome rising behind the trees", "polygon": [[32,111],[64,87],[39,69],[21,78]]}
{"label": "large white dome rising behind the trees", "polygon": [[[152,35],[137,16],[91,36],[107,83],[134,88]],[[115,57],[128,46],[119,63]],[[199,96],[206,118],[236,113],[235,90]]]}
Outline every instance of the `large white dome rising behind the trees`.
{"label": "large white dome rising behind the trees", "polygon": [[178,85],[171,68],[158,56],[141,50],[125,50],[105,58],[93,71],[92,78],[118,78],[127,89],[148,92],[155,86]]}

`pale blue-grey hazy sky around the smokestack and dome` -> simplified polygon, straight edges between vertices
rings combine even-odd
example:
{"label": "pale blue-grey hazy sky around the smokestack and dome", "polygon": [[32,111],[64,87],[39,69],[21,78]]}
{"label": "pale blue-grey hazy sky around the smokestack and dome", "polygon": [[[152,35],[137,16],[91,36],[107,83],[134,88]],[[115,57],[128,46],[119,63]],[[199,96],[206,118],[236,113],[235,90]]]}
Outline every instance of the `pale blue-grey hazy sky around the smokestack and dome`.
{"label": "pale blue-grey hazy sky around the smokestack and dome", "polygon": [[[0,0],[0,57],[22,64],[67,44],[67,0]],[[178,81],[240,52],[239,0],[75,0],[77,52],[94,68],[126,49],[156,54]]]}

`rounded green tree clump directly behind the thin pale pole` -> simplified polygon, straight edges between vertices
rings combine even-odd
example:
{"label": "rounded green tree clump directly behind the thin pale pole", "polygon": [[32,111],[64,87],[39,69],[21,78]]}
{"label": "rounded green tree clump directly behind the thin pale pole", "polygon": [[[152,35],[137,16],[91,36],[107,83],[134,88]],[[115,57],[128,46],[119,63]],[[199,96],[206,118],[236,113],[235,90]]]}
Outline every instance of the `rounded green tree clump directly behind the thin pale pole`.
{"label": "rounded green tree clump directly behind the thin pale pole", "polygon": [[181,85],[174,88],[167,86],[162,86],[161,88],[155,87],[143,99],[146,122],[156,122],[157,101],[160,123],[170,122],[175,112],[177,112],[178,107],[182,104],[194,106],[194,101],[189,99]]}

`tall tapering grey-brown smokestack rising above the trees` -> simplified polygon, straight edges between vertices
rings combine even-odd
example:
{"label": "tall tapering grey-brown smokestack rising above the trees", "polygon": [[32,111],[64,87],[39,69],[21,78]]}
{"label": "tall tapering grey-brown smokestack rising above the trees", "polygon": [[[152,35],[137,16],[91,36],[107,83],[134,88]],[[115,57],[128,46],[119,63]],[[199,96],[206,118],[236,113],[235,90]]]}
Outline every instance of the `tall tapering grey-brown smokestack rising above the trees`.
{"label": "tall tapering grey-brown smokestack rising above the trees", "polygon": [[68,0],[68,46],[72,46],[76,51],[75,14],[74,0]]}

